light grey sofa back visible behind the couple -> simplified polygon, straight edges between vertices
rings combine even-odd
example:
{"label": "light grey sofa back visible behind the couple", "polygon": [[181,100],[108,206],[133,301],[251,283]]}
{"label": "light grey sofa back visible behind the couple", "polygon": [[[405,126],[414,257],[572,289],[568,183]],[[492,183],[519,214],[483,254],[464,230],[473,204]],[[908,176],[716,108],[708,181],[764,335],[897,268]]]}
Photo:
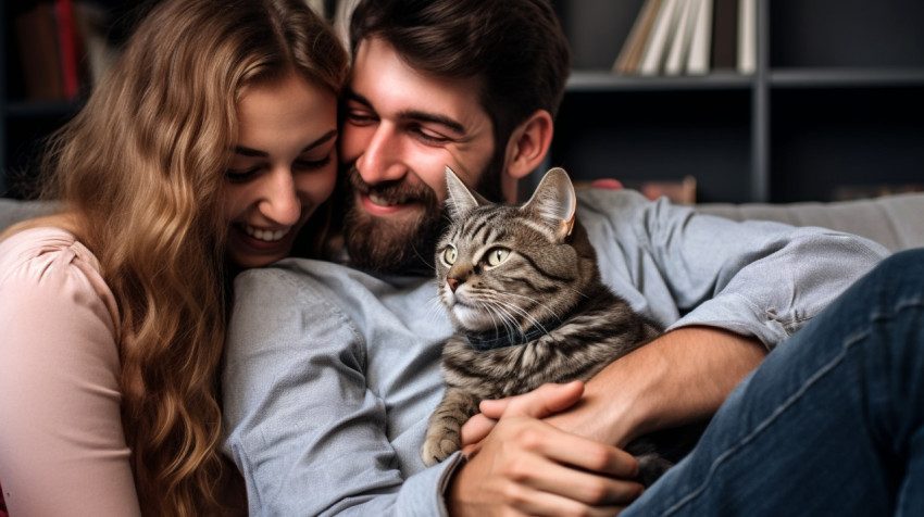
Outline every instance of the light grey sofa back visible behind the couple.
{"label": "light grey sofa back visible behind the couple", "polygon": [[[708,203],[698,209],[736,220],[767,219],[846,231],[872,239],[891,251],[924,247],[924,193],[827,203]],[[53,204],[47,202],[0,198],[0,231],[51,210]]]}

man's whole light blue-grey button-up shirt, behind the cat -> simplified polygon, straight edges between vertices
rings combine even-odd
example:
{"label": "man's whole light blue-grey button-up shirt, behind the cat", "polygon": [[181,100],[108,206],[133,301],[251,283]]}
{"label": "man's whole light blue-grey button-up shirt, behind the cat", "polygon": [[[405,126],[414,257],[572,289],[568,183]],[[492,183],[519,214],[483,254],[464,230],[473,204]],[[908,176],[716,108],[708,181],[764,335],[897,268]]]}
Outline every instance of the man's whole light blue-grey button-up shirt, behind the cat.
{"label": "man's whole light blue-grey button-up shirt, behind the cat", "polygon": [[[773,348],[888,254],[821,228],[736,223],[628,190],[578,193],[604,281],[673,329]],[[223,374],[225,452],[251,515],[446,515],[457,453],[426,468],[452,332],[433,278],[287,258],[235,282]]]}

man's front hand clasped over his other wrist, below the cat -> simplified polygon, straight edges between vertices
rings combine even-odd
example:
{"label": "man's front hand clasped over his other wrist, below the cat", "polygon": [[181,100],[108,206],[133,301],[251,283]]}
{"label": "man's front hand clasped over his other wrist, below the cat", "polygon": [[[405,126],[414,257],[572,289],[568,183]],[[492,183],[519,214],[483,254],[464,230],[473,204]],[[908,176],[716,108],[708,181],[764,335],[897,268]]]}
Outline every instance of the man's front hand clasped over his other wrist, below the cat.
{"label": "man's front hand clasped over his other wrist, below the cat", "polygon": [[499,402],[496,424],[485,418],[466,425],[466,441],[486,436],[467,450],[469,463],[452,480],[452,515],[611,516],[635,501],[642,487],[629,481],[638,474],[632,455],[540,420],[574,404],[583,391],[582,382],[547,384]]}

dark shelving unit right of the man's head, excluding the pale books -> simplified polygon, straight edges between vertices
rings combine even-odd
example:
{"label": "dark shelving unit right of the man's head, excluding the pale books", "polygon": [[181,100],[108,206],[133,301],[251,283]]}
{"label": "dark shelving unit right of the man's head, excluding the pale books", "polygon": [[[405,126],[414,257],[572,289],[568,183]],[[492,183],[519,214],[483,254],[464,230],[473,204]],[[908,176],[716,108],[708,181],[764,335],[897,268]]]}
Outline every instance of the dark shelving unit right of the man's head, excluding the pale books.
{"label": "dark shelving unit right of the man's head, excluding the pale books", "polygon": [[698,201],[924,186],[924,2],[757,0],[753,73],[611,72],[645,0],[555,0],[574,52],[550,162]]}

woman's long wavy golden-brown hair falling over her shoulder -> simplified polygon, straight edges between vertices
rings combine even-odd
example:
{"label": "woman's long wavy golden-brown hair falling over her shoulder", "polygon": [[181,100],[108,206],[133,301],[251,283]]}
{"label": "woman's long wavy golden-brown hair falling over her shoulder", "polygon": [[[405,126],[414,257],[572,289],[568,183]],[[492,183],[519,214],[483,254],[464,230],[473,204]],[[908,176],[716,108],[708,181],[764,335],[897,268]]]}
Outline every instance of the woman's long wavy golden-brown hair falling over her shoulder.
{"label": "woman's long wavy golden-brown hair falling over her shoulder", "polygon": [[303,0],[154,5],[50,141],[63,203],[118,302],[123,425],[149,515],[223,512],[224,173],[244,88],[290,74],[339,93],[347,55]]}

